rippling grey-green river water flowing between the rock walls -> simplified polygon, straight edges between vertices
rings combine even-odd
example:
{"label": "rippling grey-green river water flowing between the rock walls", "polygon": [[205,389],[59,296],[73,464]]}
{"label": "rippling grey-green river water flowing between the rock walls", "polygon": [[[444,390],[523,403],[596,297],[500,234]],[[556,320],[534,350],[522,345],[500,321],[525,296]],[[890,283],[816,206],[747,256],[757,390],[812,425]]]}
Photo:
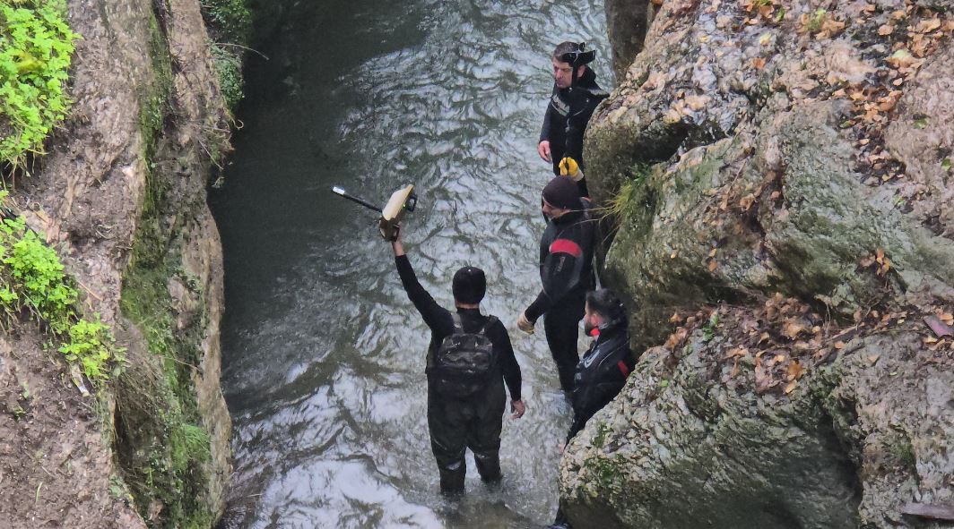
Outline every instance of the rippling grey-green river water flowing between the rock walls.
{"label": "rippling grey-green river water flowing between the rock walls", "polygon": [[[273,0],[247,68],[243,129],[210,193],[225,252],[225,397],[235,475],[222,528],[528,527],[557,501],[570,407],[546,341],[514,319],[539,289],[549,166],[535,151],[562,40],[598,50],[602,2]],[[425,418],[429,337],[374,214],[413,183],[405,246],[452,306],[464,264],[487,272],[486,313],[508,326],[527,415],[505,417],[502,486],[467,456],[467,497],[438,493]]]}

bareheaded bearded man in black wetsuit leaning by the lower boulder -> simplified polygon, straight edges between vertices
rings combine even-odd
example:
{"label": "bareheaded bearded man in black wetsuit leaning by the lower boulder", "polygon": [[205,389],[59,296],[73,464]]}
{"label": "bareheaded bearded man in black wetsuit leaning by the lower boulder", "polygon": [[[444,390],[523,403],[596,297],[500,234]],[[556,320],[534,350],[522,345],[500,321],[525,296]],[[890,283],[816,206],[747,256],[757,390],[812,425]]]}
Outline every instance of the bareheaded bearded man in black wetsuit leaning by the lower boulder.
{"label": "bareheaded bearded man in black wetsuit leaning by the lower boulder", "polygon": [[[586,426],[590,417],[619,394],[635,365],[630,351],[626,308],[607,289],[587,293],[583,327],[595,338],[576,364],[573,377],[573,423],[567,442]],[[560,508],[549,529],[570,529],[570,520]]]}

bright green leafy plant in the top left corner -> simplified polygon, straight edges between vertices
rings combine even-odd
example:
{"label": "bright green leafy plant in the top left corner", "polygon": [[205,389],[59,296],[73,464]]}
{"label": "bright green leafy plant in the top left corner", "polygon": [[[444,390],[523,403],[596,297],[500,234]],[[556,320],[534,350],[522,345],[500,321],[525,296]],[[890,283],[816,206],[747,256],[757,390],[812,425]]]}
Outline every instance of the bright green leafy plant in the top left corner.
{"label": "bright green leafy plant in the top left corner", "polygon": [[66,117],[73,40],[65,0],[0,0],[0,163],[22,166]]}

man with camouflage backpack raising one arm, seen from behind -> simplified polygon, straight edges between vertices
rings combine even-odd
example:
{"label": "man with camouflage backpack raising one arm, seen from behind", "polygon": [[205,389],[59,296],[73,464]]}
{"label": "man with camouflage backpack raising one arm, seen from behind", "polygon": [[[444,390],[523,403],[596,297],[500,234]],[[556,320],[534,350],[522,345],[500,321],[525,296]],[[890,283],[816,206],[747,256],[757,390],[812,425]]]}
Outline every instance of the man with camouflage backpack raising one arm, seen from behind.
{"label": "man with camouflage backpack raising one arm, seen from behind", "polygon": [[391,247],[404,291],[431,332],[425,368],[427,429],[441,477],[441,493],[447,498],[460,498],[467,475],[467,448],[484,482],[496,483],[502,478],[500,432],[507,399],[504,382],[510,393],[510,417],[523,417],[526,408],[520,397],[520,366],[504,324],[480,312],[487,290],[482,270],[466,266],[454,274],[456,311],[451,313],[418,282],[404,254],[400,232]]}

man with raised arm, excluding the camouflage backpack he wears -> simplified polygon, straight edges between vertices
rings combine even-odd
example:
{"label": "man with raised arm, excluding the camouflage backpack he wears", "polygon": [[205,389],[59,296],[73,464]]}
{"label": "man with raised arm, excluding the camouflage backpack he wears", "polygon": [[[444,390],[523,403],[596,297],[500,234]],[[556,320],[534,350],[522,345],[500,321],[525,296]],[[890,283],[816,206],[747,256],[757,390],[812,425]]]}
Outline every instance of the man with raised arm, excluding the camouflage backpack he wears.
{"label": "man with raised arm, excluding the camouflage backpack he wears", "polygon": [[411,263],[404,254],[404,245],[398,236],[391,242],[394,261],[401,276],[401,284],[407,297],[430,328],[430,346],[427,348],[427,429],[430,447],[437,459],[441,477],[441,492],[457,498],[464,493],[464,478],[467,475],[465,451],[474,455],[477,472],[488,483],[499,482],[500,432],[503,424],[507,395],[504,382],[510,392],[510,417],[523,417],[526,410],[520,397],[520,366],[513,356],[513,348],[507,329],[499,319],[482,315],[480,302],[487,289],[484,272],[474,267],[464,267],[454,274],[453,294],[456,315],[466,333],[481,330],[493,344],[493,374],[487,387],[475,397],[457,399],[446,397],[435,387],[431,368],[434,355],[444,339],[455,330],[455,315],[434,301],[418,282]]}

